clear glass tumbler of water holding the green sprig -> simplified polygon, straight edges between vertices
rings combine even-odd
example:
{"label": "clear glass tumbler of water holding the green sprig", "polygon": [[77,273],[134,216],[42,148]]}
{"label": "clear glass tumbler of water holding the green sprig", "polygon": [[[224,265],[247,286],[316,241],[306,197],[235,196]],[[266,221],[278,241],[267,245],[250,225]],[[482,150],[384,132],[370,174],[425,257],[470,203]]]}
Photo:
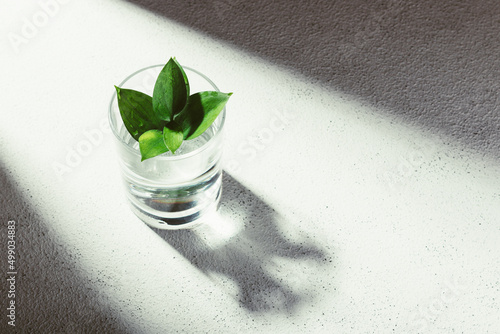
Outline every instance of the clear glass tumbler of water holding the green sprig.
{"label": "clear glass tumbler of water holding the green sprig", "polygon": [[[127,77],[119,87],[152,95],[164,65],[150,66]],[[202,73],[184,67],[191,94],[219,89]],[[139,143],[130,136],[120,116],[116,93],[109,107],[109,122],[116,137],[118,159],[132,211],[160,229],[189,228],[215,212],[222,191],[222,130],[226,109],[199,137],[141,162]]]}

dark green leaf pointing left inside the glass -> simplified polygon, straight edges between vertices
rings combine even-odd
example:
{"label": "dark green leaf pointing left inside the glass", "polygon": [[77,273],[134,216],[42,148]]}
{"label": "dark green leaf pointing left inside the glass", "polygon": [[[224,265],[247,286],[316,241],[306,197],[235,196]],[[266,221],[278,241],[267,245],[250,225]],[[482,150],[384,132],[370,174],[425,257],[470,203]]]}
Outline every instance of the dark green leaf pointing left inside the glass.
{"label": "dark green leaf pointing left inside the glass", "polygon": [[152,98],[144,93],[115,86],[123,124],[135,140],[150,129],[161,129],[164,121],[153,111]]}

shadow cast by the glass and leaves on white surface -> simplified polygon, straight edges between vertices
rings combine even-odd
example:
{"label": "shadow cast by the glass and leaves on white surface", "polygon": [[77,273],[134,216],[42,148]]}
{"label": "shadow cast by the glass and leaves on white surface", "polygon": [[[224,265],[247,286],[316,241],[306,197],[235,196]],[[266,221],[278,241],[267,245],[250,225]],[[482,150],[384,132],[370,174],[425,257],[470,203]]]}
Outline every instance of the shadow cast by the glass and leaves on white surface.
{"label": "shadow cast by the glass and leaves on white surface", "polygon": [[[227,214],[238,217],[238,222],[224,220]],[[301,271],[314,275],[318,266],[331,261],[317,244],[296,234],[287,236],[282,223],[271,207],[224,173],[219,214],[213,221],[191,230],[154,230],[225,288],[235,286],[231,294],[245,309],[293,313],[314,296],[295,288],[299,273],[280,277],[280,271],[300,263]]]}

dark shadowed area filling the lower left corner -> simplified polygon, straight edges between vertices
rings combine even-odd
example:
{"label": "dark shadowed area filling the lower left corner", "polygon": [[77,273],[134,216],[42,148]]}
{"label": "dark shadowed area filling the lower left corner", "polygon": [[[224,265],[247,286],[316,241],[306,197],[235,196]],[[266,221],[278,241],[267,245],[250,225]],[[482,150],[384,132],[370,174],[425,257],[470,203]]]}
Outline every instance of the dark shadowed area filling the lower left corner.
{"label": "dark shadowed area filling the lower left corner", "polygon": [[[23,197],[0,162],[0,268],[12,265],[14,288],[0,284],[1,333],[130,333],[68,252],[50,223]],[[8,239],[8,221],[15,237]],[[7,241],[14,240],[14,260],[8,263]],[[12,247],[11,247],[12,248]],[[8,297],[8,294],[11,297]],[[7,324],[7,308],[15,306],[15,326]],[[10,312],[10,311],[9,311]]]}

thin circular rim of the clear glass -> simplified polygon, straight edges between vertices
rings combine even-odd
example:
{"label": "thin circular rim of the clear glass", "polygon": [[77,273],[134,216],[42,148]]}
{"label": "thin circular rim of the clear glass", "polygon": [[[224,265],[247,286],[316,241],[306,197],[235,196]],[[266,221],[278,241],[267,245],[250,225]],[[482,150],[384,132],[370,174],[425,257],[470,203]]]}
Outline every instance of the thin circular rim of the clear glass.
{"label": "thin circular rim of the clear glass", "polygon": [[[151,66],[147,66],[147,67],[144,67],[144,68],[141,68],[135,72],[133,72],[132,74],[128,75],[125,79],[122,80],[122,82],[120,83],[120,87],[122,87],[128,80],[130,80],[132,77],[134,77],[135,75],[141,73],[141,72],[144,72],[150,68],[156,68],[156,67],[164,67],[165,64],[157,64],[157,65],[151,65]],[[202,77],[203,79],[205,79],[210,85],[212,85],[212,87],[217,91],[217,92],[220,92],[219,90],[219,87],[217,87],[217,85],[212,81],[210,80],[210,78],[208,78],[205,74],[191,68],[191,67],[188,67],[188,66],[182,66],[182,68],[184,70],[187,70],[187,71],[191,71],[191,72],[194,72],[196,74],[198,74],[200,77]],[[111,96],[111,102],[109,103],[109,110],[108,110],[108,122],[109,122],[109,125],[110,125],[110,128],[111,128],[111,131],[113,132],[114,136],[116,137],[116,139],[118,139],[118,141],[120,142],[120,144],[124,145],[129,151],[131,152],[134,152],[136,153],[137,156],[141,156],[140,154],[140,151],[139,150],[136,150],[136,149],[133,149],[130,145],[128,145],[124,139],[118,134],[118,130],[115,126],[115,124],[113,123],[112,121],[112,114],[113,114],[113,106],[114,106],[114,101],[117,99],[117,95],[116,95],[116,91],[112,94]],[[162,159],[162,160],[181,160],[181,159],[187,159],[189,157],[192,157],[194,155],[197,155],[199,153],[201,153],[202,151],[204,151],[205,149],[207,149],[207,147],[210,146],[210,144],[213,142],[212,139],[214,139],[215,137],[219,136],[220,135],[220,132],[222,131],[222,128],[224,127],[224,123],[225,123],[225,120],[226,120],[226,107],[224,106],[224,109],[222,109],[221,113],[219,114],[219,116],[216,118],[219,119],[221,118],[221,121],[220,121],[220,126],[218,127],[217,129],[217,132],[213,135],[213,137],[211,137],[206,143],[204,143],[202,146],[198,147],[197,149],[191,151],[191,152],[188,152],[186,154],[181,154],[181,155],[171,155],[171,156],[157,156],[155,157],[156,159]],[[123,120],[121,119],[120,117],[120,121],[123,122]]]}

